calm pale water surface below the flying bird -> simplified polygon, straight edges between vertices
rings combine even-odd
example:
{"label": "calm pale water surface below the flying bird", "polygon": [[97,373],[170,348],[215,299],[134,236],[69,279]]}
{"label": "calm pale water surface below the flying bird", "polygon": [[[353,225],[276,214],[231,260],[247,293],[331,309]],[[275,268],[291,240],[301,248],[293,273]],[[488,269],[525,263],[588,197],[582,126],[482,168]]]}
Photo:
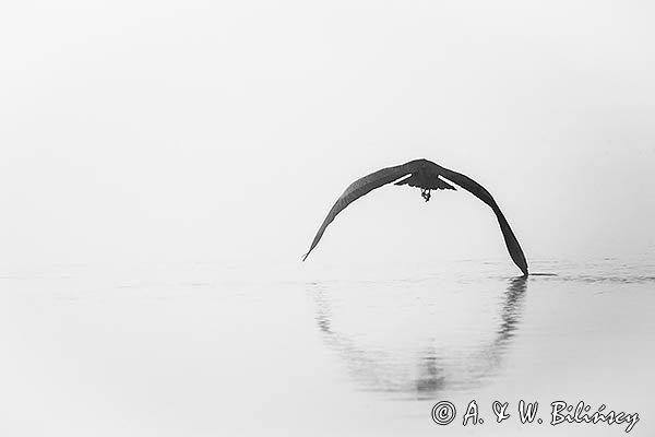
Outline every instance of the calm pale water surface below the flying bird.
{"label": "calm pale water surface below the flying bird", "polygon": [[[0,274],[0,434],[655,435],[655,264],[55,265]],[[520,400],[544,424],[521,424]],[[451,401],[439,426],[431,409]],[[476,400],[485,423],[462,426]],[[496,400],[511,417],[497,424]],[[590,414],[591,414],[590,413]]]}

